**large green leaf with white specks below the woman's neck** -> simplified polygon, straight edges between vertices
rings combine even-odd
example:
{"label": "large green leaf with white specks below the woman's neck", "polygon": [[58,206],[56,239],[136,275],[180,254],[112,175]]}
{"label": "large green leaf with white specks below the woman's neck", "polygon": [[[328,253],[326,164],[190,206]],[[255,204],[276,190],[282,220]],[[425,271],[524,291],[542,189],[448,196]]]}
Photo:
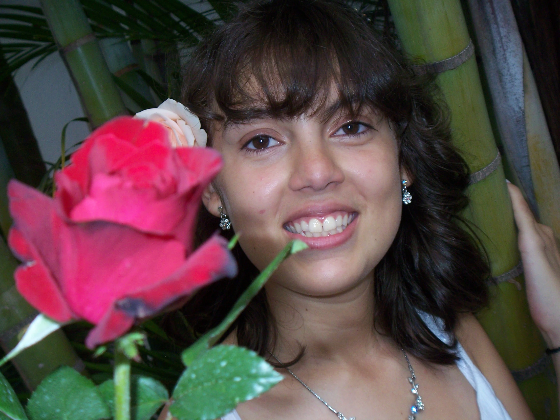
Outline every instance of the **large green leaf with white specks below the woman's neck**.
{"label": "large green leaf with white specks below the woman's neck", "polygon": [[213,420],[258,397],[282,380],[254,351],[216,346],[189,366],[173,392],[171,414],[179,420]]}

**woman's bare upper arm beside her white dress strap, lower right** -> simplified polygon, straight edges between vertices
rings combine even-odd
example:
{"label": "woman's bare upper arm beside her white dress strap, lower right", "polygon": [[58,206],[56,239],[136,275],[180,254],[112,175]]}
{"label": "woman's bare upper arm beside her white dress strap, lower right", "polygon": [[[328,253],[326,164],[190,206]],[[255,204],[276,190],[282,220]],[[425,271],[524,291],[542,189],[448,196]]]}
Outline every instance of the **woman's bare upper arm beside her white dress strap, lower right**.
{"label": "woman's bare upper arm beside her white dress strap, lower right", "polygon": [[534,419],[510,370],[472,314],[461,317],[455,334],[466,354],[492,385],[513,420]]}

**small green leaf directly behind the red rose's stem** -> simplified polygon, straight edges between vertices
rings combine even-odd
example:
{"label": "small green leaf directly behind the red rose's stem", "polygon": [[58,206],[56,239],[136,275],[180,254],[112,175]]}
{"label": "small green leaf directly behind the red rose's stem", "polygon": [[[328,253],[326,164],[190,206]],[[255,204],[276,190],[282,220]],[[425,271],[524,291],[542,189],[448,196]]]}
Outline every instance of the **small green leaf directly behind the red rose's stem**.
{"label": "small green leaf directly behind the red rose's stem", "polygon": [[[105,403],[113,412],[115,385],[113,379],[97,387]],[[161,382],[149,376],[132,375],[130,378],[130,415],[132,420],[149,420],[169,399],[169,393]]]}

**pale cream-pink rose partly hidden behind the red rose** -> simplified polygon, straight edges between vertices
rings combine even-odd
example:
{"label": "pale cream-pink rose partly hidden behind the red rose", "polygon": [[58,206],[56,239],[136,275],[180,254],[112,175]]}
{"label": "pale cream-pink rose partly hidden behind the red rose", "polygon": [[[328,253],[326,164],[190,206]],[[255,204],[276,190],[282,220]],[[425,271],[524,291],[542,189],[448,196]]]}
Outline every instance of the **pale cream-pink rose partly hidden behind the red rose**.
{"label": "pale cream-pink rose partly hidden behind the red rose", "polygon": [[208,135],[200,128],[200,120],[182,103],[166,99],[157,108],[144,109],[134,117],[157,121],[169,128],[173,147],[205,147]]}

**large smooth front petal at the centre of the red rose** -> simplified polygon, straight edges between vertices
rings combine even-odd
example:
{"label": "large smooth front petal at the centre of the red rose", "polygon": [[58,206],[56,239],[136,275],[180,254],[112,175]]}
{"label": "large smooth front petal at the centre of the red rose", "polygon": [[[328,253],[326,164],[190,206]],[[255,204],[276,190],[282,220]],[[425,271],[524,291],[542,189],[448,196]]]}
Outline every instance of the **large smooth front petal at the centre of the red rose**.
{"label": "large smooth front petal at the centre of the red rose", "polygon": [[172,237],[147,235],[108,222],[65,225],[60,288],[72,311],[92,323],[130,290],[156,284],[185,260]]}

